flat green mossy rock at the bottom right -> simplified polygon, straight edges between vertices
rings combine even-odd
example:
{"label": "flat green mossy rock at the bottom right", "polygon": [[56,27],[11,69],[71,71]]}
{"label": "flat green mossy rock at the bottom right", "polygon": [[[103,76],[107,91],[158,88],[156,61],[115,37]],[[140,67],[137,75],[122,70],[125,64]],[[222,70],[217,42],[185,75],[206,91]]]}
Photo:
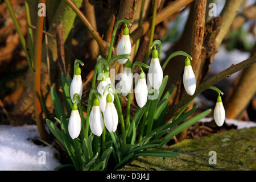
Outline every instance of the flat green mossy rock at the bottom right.
{"label": "flat green mossy rock at the bottom right", "polygon": [[[255,170],[256,127],[185,139],[163,150],[180,155],[174,158],[139,157],[121,170]],[[216,164],[209,164],[209,158],[213,157],[210,151],[216,152]]]}

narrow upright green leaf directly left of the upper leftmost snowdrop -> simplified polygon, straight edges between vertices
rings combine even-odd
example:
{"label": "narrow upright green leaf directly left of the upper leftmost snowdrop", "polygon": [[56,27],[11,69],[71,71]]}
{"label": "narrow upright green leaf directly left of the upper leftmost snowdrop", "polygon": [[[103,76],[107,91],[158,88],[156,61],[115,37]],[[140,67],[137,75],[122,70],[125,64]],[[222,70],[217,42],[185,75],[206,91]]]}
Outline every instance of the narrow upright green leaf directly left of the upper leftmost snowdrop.
{"label": "narrow upright green leaf directly left of the upper leftmost snowdrop", "polygon": [[72,101],[71,101],[70,92],[69,92],[70,88],[68,86],[68,83],[63,73],[61,73],[61,85],[63,88],[64,101],[68,111],[68,115],[71,115]]}

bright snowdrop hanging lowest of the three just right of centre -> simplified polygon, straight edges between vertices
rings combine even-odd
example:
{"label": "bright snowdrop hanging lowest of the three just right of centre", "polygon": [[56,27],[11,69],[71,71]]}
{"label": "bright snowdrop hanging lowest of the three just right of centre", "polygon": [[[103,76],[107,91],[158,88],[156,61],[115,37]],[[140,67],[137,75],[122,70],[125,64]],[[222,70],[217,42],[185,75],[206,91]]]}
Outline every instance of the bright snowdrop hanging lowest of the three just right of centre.
{"label": "bright snowdrop hanging lowest of the three just right of centre", "polygon": [[145,73],[139,74],[137,85],[135,86],[135,98],[139,107],[143,107],[147,103],[147,83]]}

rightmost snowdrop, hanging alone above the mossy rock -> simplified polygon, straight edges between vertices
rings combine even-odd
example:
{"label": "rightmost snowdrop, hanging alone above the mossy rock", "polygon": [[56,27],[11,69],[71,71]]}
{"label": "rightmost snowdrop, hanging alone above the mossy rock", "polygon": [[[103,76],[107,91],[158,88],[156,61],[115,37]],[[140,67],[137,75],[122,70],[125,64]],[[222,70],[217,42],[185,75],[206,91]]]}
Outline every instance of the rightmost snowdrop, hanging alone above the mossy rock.
{"label": "rightmost snowdrop, hanging alone above the mossy rock", "polygon": [[213,112],[213,118],[214,118],[214,121],[216,122],[216,125],[218,126],[222,126],[225,121],[225,109],[222,104],[220,94],[217,97],[216,106]]}

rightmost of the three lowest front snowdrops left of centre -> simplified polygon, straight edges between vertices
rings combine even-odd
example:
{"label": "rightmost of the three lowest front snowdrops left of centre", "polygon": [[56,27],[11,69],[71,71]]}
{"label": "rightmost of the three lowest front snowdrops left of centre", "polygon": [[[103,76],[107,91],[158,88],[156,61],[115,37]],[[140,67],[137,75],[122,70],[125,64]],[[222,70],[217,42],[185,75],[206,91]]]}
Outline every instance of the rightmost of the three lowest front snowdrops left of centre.
{"label": "rightmost of the three lowest front snowdrops left of centre", "polygon": [[104,123],[105,123],[106,129],[108,129],[109,132],[115,132],[115,130],[117,130],[118,114],[117,114],[117,109],[115,109],[115,106],[113,104],[112,96],[110,94],[108,94],[108,96],[106,97]]}

